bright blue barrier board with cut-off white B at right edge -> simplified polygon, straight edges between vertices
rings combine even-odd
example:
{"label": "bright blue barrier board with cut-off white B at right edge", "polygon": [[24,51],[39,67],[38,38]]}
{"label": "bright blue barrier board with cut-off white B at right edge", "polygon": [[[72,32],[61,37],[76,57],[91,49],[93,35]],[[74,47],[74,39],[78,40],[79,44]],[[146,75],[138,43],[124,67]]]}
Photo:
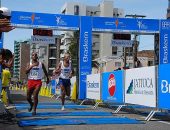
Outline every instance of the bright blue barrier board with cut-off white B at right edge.
{"label": "bright blue barrier board with cut-off white B at right edge", "polygon": [[158,108],[170,110],[170,64],[159,65]]}

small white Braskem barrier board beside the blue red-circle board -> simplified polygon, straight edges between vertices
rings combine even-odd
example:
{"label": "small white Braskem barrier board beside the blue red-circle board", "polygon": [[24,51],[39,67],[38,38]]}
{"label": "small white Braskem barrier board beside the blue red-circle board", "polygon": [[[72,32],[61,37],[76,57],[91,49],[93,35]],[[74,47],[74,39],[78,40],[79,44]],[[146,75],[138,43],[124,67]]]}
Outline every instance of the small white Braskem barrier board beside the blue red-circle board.
{"label": "small white Braskem barrier board beside the blue red-circle board", "polygon": [[100,100],[100,74],[87,75],[86,98]]}

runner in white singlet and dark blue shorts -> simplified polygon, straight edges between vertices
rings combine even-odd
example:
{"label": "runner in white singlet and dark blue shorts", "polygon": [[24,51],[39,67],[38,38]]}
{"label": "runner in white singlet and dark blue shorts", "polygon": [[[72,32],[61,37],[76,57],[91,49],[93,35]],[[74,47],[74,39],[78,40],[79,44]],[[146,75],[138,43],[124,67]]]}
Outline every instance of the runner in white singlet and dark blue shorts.
{"label": "runner in white singlet and dark blue shorts", "polygon": [[57,68],[55,69],[54,73],[59,74],[59,85],[61,88],[61,101],[62,101],[62,108],[61,110],[64,111],[64,102],[65,102],[65,95],[68,97],[70,96],[71,91],[71,82],[70,78],[72,77],[72,66],[70,62],[70,54],[65,53],[64,59],[59,63]]}

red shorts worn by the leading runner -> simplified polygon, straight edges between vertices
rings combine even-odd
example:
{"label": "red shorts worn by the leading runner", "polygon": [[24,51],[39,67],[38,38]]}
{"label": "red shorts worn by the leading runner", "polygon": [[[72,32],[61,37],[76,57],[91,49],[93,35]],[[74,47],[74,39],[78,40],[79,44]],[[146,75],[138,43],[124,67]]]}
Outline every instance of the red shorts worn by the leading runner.
{"label": "red shorts worn by the leading runner", "polygon": [[27,85],[28,85],[28,89],[35,89],[37,87],[41,87],[42,81],[41,80],[32,80],[32,79],[29,79]]}

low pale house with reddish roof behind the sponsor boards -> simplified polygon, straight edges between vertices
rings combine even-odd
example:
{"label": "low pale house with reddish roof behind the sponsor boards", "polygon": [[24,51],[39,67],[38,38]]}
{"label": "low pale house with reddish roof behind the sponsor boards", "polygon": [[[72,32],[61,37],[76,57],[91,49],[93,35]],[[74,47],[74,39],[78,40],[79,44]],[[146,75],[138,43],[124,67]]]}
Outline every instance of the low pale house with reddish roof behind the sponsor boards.
{"label": "low pale house with reddish roof behind the sponsor boards", "polygon": [[[137,53],[138,61],[140,64],[138,67],[153,66],[154,63],[154,51],[153,50],[143,50]],[[127,56],[127,66],[128,68],[133,68],[133,57]],[[118,68],[124,68],[124,60],[120,57],[107,57],[99,62],[100,66],[93,68],[92,73],[101,72],[111,72]]]}

